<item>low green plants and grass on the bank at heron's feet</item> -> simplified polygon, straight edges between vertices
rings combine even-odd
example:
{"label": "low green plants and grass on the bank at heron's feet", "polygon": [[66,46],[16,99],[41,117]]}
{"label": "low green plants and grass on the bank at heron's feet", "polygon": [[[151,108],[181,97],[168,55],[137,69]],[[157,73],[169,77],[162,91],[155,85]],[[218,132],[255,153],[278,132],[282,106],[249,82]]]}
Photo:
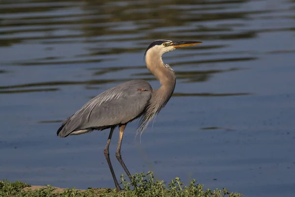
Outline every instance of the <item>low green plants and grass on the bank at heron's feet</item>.
{"label": "low green plants and grass on the bank at heron's feet", "polygon": [[226,189],[204,190],[203,185],[192,180],[188,186],[177,177],[166,186],[164,181],[155,180],[152,172],[133,175],[133,181],[128,182],[121,176],[123,192],[115,189],[64,189],[57,192],[56,188],[47,187],[32,191],[27,183],[7,180],[0,181],[0,197],[241,197],[241,194],[230,193]]}

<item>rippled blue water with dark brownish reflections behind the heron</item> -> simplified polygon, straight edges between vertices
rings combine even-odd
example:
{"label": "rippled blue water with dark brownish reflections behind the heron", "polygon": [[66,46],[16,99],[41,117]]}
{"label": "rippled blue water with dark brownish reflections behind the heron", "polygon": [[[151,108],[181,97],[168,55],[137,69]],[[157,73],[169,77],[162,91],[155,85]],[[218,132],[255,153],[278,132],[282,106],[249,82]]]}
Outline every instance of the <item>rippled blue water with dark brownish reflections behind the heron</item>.
{"label": "rippled blue water with dark brownish reflections behind the heron", "polygon": [[[131,173],[196,178],[249,197],[295,195],[294,0],[2,0],[0,177],[32,185],[114,187],[109,131],[58,138],[90,98],[148,72],[155,39],[203,44],[164,55],[175,94],[143,133],[127,126]],[[115,158],[118,130],[111,142]]]}

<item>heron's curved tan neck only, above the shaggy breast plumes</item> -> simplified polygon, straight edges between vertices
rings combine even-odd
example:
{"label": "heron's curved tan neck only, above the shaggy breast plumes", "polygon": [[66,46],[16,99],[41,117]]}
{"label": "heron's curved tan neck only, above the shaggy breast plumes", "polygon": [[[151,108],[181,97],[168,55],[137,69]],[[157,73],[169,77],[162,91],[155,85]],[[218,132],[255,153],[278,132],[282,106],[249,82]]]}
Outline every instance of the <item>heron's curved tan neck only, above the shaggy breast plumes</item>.
{"label": "heron's curved tan neck only, above the shaggy breast plumes", "polygon": [[160,81],[161,87],[154,90],[154,97],[165,101],[164,105],[171,98],[175,84],[176,76],[173,69],[165,65],[162,61],[162,54],[149,51],[146,55],[146,64],[148,70]]}

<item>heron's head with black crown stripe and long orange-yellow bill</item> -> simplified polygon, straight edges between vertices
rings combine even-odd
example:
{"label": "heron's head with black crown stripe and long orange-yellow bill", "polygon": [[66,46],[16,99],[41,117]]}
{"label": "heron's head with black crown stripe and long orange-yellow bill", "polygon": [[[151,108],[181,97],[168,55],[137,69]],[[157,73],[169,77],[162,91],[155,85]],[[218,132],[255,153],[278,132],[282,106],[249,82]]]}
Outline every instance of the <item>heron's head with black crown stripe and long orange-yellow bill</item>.
{"label": "heron's head with black crown stripe and long orange-yellow bill", "polygon": [[148,51],[152,51],[153,53],[158,53],[159,55],[163,55],[169,51],[173,51],[176,48],[184,47],[184,46],[192,46],[201,44],[200,41],[171,41],[171,40],[155,40],[153,41],[147,48],[145,52],[145,56]]}

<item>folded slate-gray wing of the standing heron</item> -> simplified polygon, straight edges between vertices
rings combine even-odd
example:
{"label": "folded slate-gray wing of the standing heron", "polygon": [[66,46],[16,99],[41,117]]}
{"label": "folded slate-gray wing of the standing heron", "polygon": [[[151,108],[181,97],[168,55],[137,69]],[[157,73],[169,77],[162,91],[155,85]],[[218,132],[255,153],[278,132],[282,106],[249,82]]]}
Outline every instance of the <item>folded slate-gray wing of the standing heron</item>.
{"label": "folded slate-gray wing of the standing heron", "polygon": [[57,134],[66,137],[74,131],[103,130],[128,123],[143,113],[151,91],[151,86],[144,80],[131,80],[108,89],[68,117]]}

